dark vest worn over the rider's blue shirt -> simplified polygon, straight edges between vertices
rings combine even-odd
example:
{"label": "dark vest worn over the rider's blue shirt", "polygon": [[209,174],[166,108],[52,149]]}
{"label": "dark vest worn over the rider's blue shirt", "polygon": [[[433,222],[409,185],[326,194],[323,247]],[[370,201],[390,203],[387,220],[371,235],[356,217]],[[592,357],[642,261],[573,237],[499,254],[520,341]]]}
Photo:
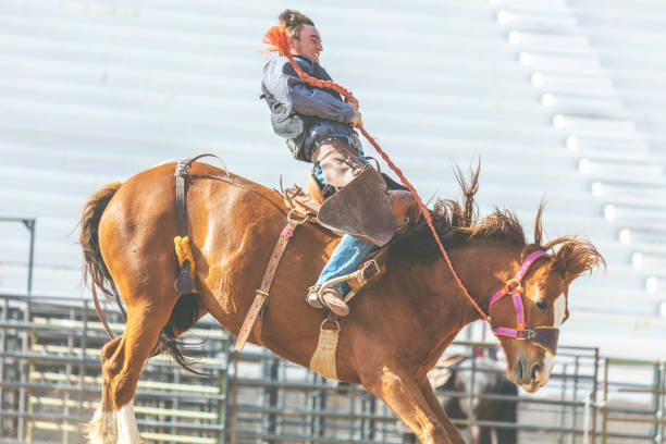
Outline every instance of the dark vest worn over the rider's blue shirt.
{"label": "dark vest worn over the rider's blue shirt", "polygon": [[[295,59],[300,59],[307,62],[307,67],[304,67],[303,64],[299,63],[303,71],[320,81],[331,81],[331,76],[326,71],[321,67],[318,63],[312,63],[308,59],[295,55]],[[306,85],[308,88],[317,88],[316,86]],[[337,97],[342,101],[342,96],[330,88],[318,88],[323,89]],[[319,121],[317,118],[311,118],[308,115],[298,114],[294,110],[289,110],[284,103],[279,102],[263,86],[261,83],[261,98],[266,99],[266,102],[271,110],[271,124],[273,125],[273,131],[281,137],[286,139],[287,147],[289,151],[292,151],[292,156],[294,156],[297,160],[303,160],[306,162],[310,161],[310,153],[305,152],[305,138],[307,134],[307,128]]]}

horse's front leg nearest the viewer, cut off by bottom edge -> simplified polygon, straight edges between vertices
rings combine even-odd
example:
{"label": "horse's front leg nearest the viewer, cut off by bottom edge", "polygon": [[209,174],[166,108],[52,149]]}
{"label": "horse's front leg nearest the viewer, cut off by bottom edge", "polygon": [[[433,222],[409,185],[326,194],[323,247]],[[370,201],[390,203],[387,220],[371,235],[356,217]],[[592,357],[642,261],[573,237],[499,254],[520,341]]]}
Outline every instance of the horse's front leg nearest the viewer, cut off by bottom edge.
{"label": "horse's front leg nearest the viewer, cut off by bottom edge", "polygon": [[[361,378],[366,388],[382,399],[421,443],[457,444],[421,393],[414,377],[399,365],[388,365]],[[459,436],[459,433],[458,435]]]}

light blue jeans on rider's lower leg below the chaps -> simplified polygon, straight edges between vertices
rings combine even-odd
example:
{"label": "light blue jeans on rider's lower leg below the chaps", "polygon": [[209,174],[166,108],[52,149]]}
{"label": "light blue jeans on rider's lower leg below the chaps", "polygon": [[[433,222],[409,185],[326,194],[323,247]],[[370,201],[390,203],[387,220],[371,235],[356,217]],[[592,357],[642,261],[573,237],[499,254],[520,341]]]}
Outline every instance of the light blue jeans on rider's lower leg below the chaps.
{"label": "light blue jeans on rider's lower leg below the chaps", "polygon": [[[370,251],[377,249],[377,245],[363,240],[358,237],[354,237],[349,234],[345,234],[342,237],[337,247],[333,250],[331,259],[321,271],[319,279],[317,280],[318,285],[322,285],[333,278],[340,278],[345,274],[354,273],[358,266],[366,259]],[[343,295],[349,293],[351,289],[349,284],[341,282],[333,285]]]}

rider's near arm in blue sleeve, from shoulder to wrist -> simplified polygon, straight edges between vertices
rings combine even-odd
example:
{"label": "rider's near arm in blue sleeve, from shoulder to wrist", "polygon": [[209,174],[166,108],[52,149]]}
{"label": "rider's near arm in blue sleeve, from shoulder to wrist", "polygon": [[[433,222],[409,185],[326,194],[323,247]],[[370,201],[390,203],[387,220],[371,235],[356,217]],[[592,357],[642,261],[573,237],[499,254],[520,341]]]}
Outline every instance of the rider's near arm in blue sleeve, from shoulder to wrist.
{"label": "rider's near arm in blue sleeve, from shoulder to wrist", "polygon": [[275,62],[272,60],[267,64],[263,85],[276,100],[298,114],[349,123],[355,114],[354,108],[303,82],[288,63]]}

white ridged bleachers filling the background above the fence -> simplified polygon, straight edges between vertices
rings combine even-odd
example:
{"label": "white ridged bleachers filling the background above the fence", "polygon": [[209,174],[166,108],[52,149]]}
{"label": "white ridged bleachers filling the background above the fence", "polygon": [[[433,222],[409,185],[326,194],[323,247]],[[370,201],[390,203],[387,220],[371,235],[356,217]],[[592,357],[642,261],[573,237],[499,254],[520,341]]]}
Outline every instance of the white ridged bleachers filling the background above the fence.
{"label": "white ridged bleachers filling the background above the fence", "polygon": [[[261,37],[286,7],[314,20],[322,64],[421,196],[457,197],[452,165],[480,158],[481,213],[513,209],[530,234],[545,196],[548,236],[600,247],[608,271],[572,286],[564,343],[666,357],[656,0],[5,0],[0,215],[37,219],[35,294],[87,295],[70,233],[106,183],[200,152],[304,182],[259,100]],[[27,231],[0,226],[0,291],[25,292]]]}

